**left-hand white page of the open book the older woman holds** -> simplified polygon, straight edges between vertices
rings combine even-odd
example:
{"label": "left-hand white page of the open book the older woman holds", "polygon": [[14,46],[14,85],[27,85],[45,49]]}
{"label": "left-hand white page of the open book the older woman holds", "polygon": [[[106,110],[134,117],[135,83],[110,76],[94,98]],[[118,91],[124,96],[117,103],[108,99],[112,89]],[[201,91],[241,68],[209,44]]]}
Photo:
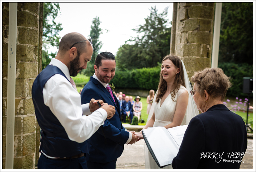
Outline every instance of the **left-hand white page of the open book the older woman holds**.
{"label": "left-hand white page of the open book the older woman holds", "polygon": [[152,127],[143,130],[146,134],[148,143],[155,154],[160,166],[172,163],[172,159],[176,157],[179,146],[170,136],[165,127]]}

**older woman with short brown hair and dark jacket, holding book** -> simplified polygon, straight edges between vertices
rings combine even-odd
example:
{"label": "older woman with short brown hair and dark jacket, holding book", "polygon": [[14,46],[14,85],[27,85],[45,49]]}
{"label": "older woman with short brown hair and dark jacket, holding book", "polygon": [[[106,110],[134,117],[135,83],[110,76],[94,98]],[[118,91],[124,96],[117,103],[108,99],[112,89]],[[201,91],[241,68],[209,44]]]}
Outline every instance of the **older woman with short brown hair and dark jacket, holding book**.
{"label": "older woman with short brown hair and dark jacket, holding book", "polygon": [[191,119],[172,167],[239,168],[247,133],[243,119],[223,104],[231,87],[229,78],[220,68],[205,68],[195,72],[191,81],[195,84],[190,92],[202,113]]}

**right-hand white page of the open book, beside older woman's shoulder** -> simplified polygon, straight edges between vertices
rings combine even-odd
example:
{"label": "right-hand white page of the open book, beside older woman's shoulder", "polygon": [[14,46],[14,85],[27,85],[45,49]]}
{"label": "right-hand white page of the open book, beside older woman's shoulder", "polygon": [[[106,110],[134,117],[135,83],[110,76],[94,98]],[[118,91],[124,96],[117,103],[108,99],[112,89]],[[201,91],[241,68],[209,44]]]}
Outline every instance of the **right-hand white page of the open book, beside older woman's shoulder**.
{"label": "right-hand white page of the open book, beside older woman's shoulder", "polygon": [[184,137],[184,133],[187,128],[188,128],[188,125],[177,126],[177,127],[172,127],[167,129],[179,147],[181,145],[182,139]]}

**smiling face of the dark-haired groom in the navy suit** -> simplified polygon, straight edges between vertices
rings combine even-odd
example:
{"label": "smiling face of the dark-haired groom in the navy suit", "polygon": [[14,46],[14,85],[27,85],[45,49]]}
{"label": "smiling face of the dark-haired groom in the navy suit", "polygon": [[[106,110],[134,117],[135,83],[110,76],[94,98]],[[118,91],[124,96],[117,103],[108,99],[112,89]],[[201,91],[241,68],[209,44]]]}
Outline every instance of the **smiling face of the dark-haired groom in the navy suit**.
{"label": "smiling face of the dark-haired groom in the navy suit", "polygon": [[99,69],[94,65],[95,74],[98,79],[108,84],[115,76],[115,60],[101,60]]}

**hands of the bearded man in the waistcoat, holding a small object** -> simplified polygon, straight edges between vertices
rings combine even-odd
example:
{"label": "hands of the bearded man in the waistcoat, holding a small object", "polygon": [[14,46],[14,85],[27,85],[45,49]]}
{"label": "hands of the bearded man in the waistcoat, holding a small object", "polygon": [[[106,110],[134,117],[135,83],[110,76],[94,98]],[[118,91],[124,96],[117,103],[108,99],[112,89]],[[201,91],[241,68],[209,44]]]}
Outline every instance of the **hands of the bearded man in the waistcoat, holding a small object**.
{"label": "hands of the bearded man in the waistcoat, holding a small object", "polygon": [[103,100],[91,99],[91,101],[89,103],[89,108],[90,108],[91,113],[93,113],[95,110],[100,108],[97,102],[99,102],[101,104],[101,108],[105,109],[106,112],[108,113],[107,119],[110,119],[114,116],[115,107],[108,103],[104,103]]}

